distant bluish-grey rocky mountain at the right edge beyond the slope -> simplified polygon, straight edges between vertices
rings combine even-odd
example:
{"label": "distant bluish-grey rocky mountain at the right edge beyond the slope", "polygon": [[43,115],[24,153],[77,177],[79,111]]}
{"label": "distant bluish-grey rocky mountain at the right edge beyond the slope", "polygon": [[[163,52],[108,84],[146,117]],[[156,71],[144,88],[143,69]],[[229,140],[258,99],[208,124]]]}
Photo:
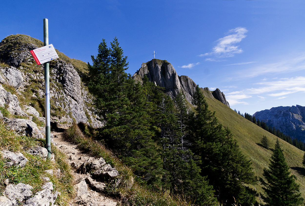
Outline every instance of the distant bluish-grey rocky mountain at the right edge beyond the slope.
{"label": "distant bluish-grey rocky mountain at the right edge beyond the slope", "polygon": [[305,107],[287,106],[273,107],[260,112],[255,112],[253,116],[267,126],[280,130],[285,135],[305,141]]}

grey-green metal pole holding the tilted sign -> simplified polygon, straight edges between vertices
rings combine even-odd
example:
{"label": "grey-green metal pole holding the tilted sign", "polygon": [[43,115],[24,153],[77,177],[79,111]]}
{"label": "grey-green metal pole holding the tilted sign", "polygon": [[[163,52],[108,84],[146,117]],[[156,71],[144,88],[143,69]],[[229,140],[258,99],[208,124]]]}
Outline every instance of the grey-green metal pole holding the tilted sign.
{"label": "grey-green metal pole holding the tilted sign", "polygon": [[[43,19],[43,43],[44,46],[49,45],[48,19]],[[45,147],[48,150],[48,159],[51,159],[49,62],[45,63],[44,69],[45,69]]]}

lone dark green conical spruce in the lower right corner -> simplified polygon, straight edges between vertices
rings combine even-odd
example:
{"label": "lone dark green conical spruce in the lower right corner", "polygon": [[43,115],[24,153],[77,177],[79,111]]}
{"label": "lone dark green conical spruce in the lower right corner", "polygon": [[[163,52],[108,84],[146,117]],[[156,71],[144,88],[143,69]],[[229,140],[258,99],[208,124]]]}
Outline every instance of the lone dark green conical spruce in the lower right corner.
{"label": "lone dark green conical spruce in the lower right corner", "polygon": [[268,206],[297,206],[302,204],[299,187],[295,182],[296,177],[290,174],[289,166],[285,161],[280,143],[277,139],[269,168],[260,178],[265,194],[263,200]]}

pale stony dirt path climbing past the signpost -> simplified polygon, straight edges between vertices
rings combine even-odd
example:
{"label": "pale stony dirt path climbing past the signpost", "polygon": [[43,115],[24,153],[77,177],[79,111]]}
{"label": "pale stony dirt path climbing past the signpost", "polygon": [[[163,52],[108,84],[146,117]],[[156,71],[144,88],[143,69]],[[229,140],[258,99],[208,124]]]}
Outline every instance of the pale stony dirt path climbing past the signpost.
{"label": "pale stony dirt path climbing past the signpost", "polygon": [[92,176],[89,173],[77,173],[77,169],[84,162],[88,161],[90,156],[78,150],[75,144],[64,140],[63,133],[53,132],[53,135],[56,147],[67,156],[67,162],[70,163],[74,169],[74,187],[77,195],[70,204],[74,206],[116,206],[117,202],[115,200],[103,196],[101,192],[102,189],[96,189],[96,187],[91,184],[93,182],[102,185],[103,183],[95,182],[95,180],[91,179]]}

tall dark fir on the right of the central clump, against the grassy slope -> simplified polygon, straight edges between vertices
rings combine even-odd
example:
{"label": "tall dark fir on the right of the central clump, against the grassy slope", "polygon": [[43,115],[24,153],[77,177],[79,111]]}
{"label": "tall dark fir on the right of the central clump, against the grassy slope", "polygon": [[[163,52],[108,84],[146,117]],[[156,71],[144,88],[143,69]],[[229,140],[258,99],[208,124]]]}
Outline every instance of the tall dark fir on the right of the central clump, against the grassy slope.
{"label": "tall dark fir on the right of the central clump, against the grassy slope", "polygon": [[256,181],[251,162],[241,154],[231,131],[223,129],[215,112],[208,109],[198,86],[193,104],[196,113],[190,112],[188,128],[201,175],[207,176],[222,204],[231,205],[235,200],[242,205],[254,204],[256,192],[244,185]]}

